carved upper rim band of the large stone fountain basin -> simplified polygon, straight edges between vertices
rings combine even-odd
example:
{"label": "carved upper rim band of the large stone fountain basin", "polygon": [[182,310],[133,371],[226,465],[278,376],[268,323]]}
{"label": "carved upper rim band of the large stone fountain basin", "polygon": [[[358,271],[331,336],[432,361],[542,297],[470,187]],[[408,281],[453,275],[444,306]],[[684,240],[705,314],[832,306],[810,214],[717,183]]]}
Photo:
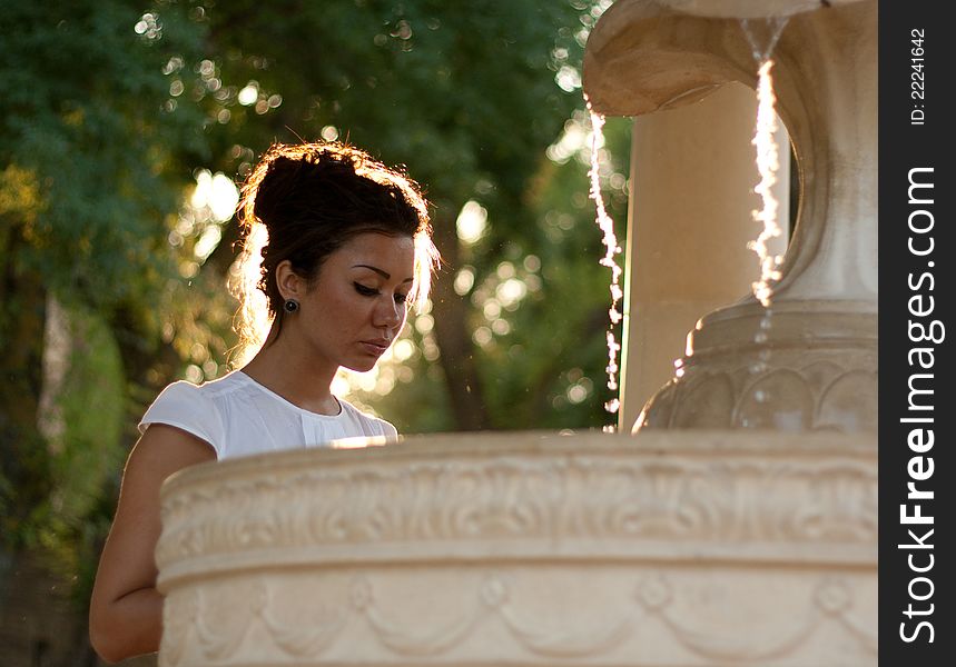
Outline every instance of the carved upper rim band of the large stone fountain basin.
{"label": "carved upper rim band of the large stone fountain basin", "polygon": [[[469,566],[489,560],[502,567],[571,563],[628,567],[674,560],[668,546],[671,538],[690,549],[677,558],[682,564],[706,558],[731,566],[776,567],[791,563],[795,555],[807,560],[811,569],[826,565],[869,568],[876,563],[875,544],[866,536],[844,536],[830,545],[832,548],[820,550],[821,541],[812,531],[797,531],[781,539],[761,528],[777,525],[786,508],[799,514],[804,500],[781,505],[779,499],[768,499],[757,509],[760,520],[747,522],[745,528],[752,535],[745,531],[749,537],[741,545],[735,541],[741,537],[741,524],[733,511],[729,519],[725,517],[704,530],[687,534],[678,526],[663,536],[653,527],[628,531],[614,520],[620,517],[619,491],[629,488],[627,480],[635,472],[684,480],[716,476],[709,491],[688,486],[687,497],[676,501],[671,514],[699,508],[701,498],[722,498],[726,488],[720,480],[728,471],[739,474],[742,490],[737,494],[743,496],[763,488],[768,479],[788,479],[788,484],[806,487],[808,475],[819,470],[829,471],[837,480],[875,484],[878,451],[871,434],[645,429],[637,436],[600,431],[566,436],[558,431],[497,431],[405,436],[385,446],[380,439],[378,446],[356,448],[362,440],[336,441],[349,448],[292,449],[200,464],[171,476],[160,491],[164,530],[156,551],[160,590],[168,593],[206,575],[231,576],[277,566],[295,569],[311,564],[323,569],[440,563]],[[424,480],[424,486],[406,484],[414,479]],[[535,481],[525,484],[523,479]],[[378,480],[387,484],[380,486]],[[464,487],[455,480],[464,480]],[[594,495],[603,488],[601,480],[617,486]],[[300,496],[304,488],[315,489],[309,491],[315,507],[284,496],[286,491]],[[368,496],[371,488],[380,492]],[[652,486],[645,490],[652,491],[651,502],[661,504],[670,497],[668,488]],[[502,496],[502,489],[511,489],[524,505],[545,508],[540,515],[544,518],[532,521],[531,528],[502,532],[495,519],[502,516],[504,498],[510,497]],[[230,508],[237,498],[250,498],[253,490],[280,500],[257,508],[244,524],[245,519],[230,514]],[[799,498],[816,492],[807,487]],[[336,502],[351,508],[342,517],[351,517],[355,524],[352,532],[335,532],[335,521],[342,517],[329,508]],[[580,517],[569,510],[580,502],[587,508],[585,515],[607,520],[580,522]],[[375,511],[380,506],[392,508],[390,511],[398,517],[421,515],[424,524],[386,521],[395,531],[380,534]],[[422,507],[442,508],[437,522],[432,520],[433,512],[421,514]],[[477,527],[462,522],[460,519],[469,516],[461,511],[465,507],[477,508],[477,516],[490,520]],[[446,522],[442,517],[457,519]],[[288,527],[303,521],[317,521],[319,535],[309,534],[305,541],[289,538]],[[861,517],[851,522],[869,530],[868,521]],[[268,537],[267,549],[244,537],[256,535],[256,527],[262,525],[278,529]],[[329,526],[332,532],[326,530]],[[601,554],[595,552],[597,546]]]}

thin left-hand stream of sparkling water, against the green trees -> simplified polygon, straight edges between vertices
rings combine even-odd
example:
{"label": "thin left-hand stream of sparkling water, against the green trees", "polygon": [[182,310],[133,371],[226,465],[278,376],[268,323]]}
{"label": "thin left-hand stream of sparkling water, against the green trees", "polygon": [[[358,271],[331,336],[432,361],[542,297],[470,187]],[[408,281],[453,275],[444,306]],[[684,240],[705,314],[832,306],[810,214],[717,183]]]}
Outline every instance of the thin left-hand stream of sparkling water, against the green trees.
{"label": "thin left-hand stream of sparkling water, against the green trees", "polygon": [[[584,101],[588,104],[588,112],[591,115],[591,169],[589,177],[591,179],[591,199],[594,200],[594,206],[598,210],[597,222],[603,232],[602,242],[604,243],[604,257],[601,258],[601,266],[608,267],[611,270],[611,308],[608,310],[608,316],[611,320],[611,326],[608,328],[608,389],[611,391],[618,390],[618,352],[621,349],[620,344],[614,338],[614,326],[621,321],[621,313],[618,311],[618,302],[624,296],[620,287],[620,279],[623,270],[614,260],[614,256],[621,252],[621,247],[618,245],[618,237],[614,233],[614,221],[608,215],[604,208],[604,199],[601,196],[600,181],[600,165],[599,152],[604,145],[603,127],[604,117],[597,113],[588,97],[584,96]],[[617,398],[604,404],[604,409],[612,415],[620,409],[620,402]],[[613,431],[613,426],[605,426],[605,431]]]}

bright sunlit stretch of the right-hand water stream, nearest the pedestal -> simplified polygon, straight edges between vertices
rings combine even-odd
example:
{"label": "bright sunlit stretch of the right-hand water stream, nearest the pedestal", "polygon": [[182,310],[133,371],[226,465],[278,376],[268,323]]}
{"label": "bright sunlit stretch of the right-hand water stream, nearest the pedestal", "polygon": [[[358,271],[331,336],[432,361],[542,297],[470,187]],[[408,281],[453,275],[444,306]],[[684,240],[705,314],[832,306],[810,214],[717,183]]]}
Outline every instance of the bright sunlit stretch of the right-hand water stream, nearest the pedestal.
{"label": "bright sunlit stretch of the right-hand water stream, nearest the pedestal", "polygon": [[767,248],[767,242],[770,239],[782,233],[777,217],[779,202],[773,196],[780,160],[776,140],[778,125],[775,104],[777,98],[773,94],[773,79],[770,76],[772,67],[772,60],[765,60],[760,66],[757,84],[757,130],[752,141],[757,149],[757,170],[760,172],[760,182],[753,188],[753,191],[760,196],[762,201],[762,208],[753,211],[753,219],[762,223],[763,229],[756,240],[747,245],[750,250],[757,253],[760,262],[760,280],[752,283],[752,289],[753,296],[765,308],[770,306],[773,293],[772,285],[780,279],[779,266],[782,261],[780,256],[771,255]]}

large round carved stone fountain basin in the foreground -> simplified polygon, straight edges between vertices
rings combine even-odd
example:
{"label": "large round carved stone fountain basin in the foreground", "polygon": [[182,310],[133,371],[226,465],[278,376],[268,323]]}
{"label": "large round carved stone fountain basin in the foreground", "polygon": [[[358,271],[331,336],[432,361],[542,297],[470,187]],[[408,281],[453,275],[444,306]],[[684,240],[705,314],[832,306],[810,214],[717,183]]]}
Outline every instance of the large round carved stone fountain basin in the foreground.
{"label": "large round carved stone fountain basin in the foreground", "polygon": [[162,488],[160,665],[864,665],[873,437],[441,435]]}

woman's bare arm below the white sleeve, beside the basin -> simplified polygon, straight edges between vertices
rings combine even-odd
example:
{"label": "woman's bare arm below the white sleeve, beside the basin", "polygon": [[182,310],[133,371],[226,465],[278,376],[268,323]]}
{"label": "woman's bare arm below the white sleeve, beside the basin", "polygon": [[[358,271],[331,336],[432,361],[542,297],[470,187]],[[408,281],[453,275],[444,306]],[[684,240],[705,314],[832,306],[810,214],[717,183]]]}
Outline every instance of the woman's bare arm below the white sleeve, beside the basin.
{"label": "woman's bare arm below the white sleeve, beside the basin", "polygon": [[105,660],[159,650],[162,596],[154,558],[159,487],[177,470],[215,459],[208,442],[162,424],[147,428],[129,454],[90,600],[90,641]]}

